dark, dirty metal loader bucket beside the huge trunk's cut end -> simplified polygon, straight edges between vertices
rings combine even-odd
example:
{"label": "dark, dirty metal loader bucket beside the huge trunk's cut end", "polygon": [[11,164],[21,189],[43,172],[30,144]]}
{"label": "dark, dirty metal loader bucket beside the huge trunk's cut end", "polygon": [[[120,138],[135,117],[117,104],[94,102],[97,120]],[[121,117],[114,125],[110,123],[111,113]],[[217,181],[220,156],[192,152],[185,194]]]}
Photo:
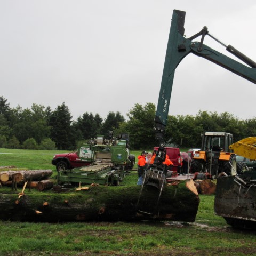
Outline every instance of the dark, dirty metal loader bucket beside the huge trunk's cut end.
{"label": "dark, dirty metal loader bucket beside the huge trunk's cut end", "polygon": [[234,228],[256,229],[256,172],[217,178],[214,212]]}

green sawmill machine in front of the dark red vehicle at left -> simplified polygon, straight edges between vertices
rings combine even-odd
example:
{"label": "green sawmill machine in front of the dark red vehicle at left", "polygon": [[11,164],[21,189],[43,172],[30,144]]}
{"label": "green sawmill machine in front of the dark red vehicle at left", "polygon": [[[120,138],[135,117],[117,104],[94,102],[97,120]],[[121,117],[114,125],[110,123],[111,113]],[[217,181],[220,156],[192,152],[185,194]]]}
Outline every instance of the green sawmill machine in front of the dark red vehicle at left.
{"label": "green sawmill machine in front of the dark red vehicle at left", "polygon": [[117,138],[110,133],[108,139],[103,135],[89,141],[79,148],[79,158],[89,162],[81,168],[58,171],[58,185],[119,185],[135,164],[135,157],[128,149],[129,134]]}

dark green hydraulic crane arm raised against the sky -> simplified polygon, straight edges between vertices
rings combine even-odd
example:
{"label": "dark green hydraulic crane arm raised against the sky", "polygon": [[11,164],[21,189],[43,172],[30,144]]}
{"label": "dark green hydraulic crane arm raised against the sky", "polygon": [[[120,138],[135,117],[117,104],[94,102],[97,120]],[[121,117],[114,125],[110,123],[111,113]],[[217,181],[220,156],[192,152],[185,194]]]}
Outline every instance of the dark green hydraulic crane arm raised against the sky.
{"label": "dark green hydraulic crane arm raised against the sky", "polygon": [[[156,139],[163,143],[164,131],[167,122],[167,116],[169,111],[172,84],[175,69],[189,53],[194,53],[199,57],[203,57],[207,60],[214,62],[215,64],[228,69],[229,71],[241,76],[252,83],[256,83],[256,63],[246,57],[243,53],[236,50],[231,45],[224,45],[218,39],[209,34],[207,27],[197,33],[196,35],[186,38],[184,37],[184,23],[186,12],[173,10],[171,29],[167,44],[164,70],[161,82],[161,89],[159,92],[157,110],[155,115],[155,127]],[[248,66],[227,57],[226,55],[211,49],[211,47],[204,45],[204,37],[206,35],[211,36],[213,39],[226,46],[226,50],[234,54],[237,58],[245,62]],[[193,42],[193,40],[202,36],[200,42]]]}

